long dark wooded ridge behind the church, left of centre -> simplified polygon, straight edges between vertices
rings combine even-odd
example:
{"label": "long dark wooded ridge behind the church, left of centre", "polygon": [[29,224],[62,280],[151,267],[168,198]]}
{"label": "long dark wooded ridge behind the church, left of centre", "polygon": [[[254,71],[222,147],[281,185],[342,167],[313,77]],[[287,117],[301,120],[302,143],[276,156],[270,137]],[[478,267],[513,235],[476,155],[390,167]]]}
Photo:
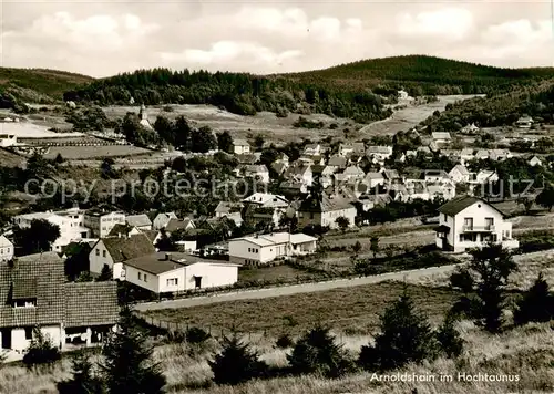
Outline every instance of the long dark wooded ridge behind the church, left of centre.
{"label": "long dark wooded ridge behind the church, left of centre", "polygon": [[229,72],[140,70],[96,80],[64,94],[66,101],[100,105],[129,104],[131,98],[146,105],[212,104],[242,115],[254,115],[259,111],[275,112],[279,116],[287,112],[316,112],[360,123],[390,114],[390,110],[383,110],[381,98],[370,91],[339,90],[286,77]]}

